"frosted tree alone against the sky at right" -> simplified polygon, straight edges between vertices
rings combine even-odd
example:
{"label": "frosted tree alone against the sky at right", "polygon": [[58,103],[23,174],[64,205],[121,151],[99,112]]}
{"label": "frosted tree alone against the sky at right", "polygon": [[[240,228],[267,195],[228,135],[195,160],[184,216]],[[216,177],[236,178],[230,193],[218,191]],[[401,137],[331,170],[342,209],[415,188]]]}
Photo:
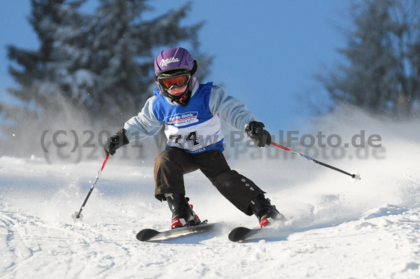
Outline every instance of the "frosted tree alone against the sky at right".
{"label": "frosted tree alone against the sky at right", "polygon": [[321,82],[337,103],[378,115],[412,117],[420,99],[420,1],[361,0],[339,52],[347,59]]}

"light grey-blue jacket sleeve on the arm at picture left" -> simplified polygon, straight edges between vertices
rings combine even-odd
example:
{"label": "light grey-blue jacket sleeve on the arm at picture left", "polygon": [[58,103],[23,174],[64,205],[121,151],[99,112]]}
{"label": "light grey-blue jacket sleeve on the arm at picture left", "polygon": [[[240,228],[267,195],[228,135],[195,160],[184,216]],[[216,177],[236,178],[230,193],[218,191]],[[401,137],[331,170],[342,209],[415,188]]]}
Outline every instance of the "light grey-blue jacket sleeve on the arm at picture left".
{"label": "light grey-blue jacket sleeve on the arm at picture left", "polygon": [[159,121],[153,113],[153,101],[155,98],[155,96],[149,98],[139,115],[125,122],[125,135],[130,142],[140,141],[149,136],[154,136],[162,129],[163,122]]}

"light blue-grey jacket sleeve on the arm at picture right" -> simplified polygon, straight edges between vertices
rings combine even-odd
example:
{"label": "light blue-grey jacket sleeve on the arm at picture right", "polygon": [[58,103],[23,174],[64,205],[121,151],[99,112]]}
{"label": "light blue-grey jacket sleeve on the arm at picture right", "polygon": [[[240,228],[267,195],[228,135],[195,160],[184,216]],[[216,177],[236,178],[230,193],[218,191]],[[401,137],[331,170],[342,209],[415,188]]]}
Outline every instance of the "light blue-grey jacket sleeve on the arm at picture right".
{"label": "light blue-grey jacket sleeve on the arm at picture right", "polygon": [[221,120],[241,131],[244,131],[249,122],[256,120],[255,115],[246,108],[244,103],[229,96],[222,87],[211,88],[209,106],[212,115],[217,115]]}

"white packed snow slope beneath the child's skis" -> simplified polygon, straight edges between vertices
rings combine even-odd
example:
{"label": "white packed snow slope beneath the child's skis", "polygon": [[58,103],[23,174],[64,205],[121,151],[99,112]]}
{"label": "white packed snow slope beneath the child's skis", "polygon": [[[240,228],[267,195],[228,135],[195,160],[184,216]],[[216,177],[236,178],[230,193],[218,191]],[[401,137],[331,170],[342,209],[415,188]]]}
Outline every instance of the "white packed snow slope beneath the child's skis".
{"label": "white packed snow slope beneath the child's skis", "polygon": [[283,157],[283,150],[281,157],[259,157],[241,149],[237,158],[227,150],[232,169],[262,187],[289,218],[275,235],[246,243],[230,242],[228,232],[258,221],[225,201],[200,172],[186,176],[190,202],[202,219],[223,222],[220,229],[142,243],[135,238],[140,229],[170,225],[167,204],[153,197],[153,166],[124,162],[117,152],[83,222],[74,224],[71,214],[103,159],[48,164],[0,157],[0,278],[420,278],[419,122],[332,119],[314,123],[311,133],[339,134],[343,142],[360,130],[381,136],[379,155],[348,148],[339,159],[316,157],[359,171],[357,183],[295,155]]}

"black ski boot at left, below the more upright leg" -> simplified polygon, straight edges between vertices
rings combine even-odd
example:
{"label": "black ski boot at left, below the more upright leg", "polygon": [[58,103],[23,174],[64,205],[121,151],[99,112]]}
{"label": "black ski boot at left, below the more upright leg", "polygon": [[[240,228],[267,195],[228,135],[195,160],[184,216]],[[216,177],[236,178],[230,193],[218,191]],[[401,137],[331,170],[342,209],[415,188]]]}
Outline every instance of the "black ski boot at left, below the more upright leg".
{"label": "black ski boot at left, below the more upright leg", "polygon": [[184,225],[200,224],[200,218],[193,211],[193,206],[188,204],[188,198],[183,194],[165,194],[169,208],[172,210],[171,229]]}

